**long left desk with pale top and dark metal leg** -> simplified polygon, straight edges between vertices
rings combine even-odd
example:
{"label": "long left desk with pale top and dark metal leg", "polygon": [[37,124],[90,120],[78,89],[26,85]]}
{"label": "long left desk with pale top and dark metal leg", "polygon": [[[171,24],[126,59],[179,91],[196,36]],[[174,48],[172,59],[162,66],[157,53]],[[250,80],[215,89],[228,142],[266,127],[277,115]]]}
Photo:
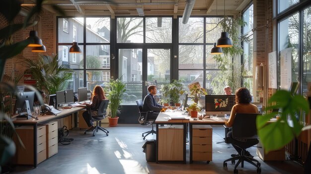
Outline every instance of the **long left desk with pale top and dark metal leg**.
{"label": "long left desk with pale top and dark metal leg", "polygon": [[83,109],[84,107],[73,107],[70,109],[63,109],[61,113],[57,114],[57,115],[40,115],[38,117],[38,120],[31,118],[28,120],[16,120],[16,118],[14,118],[12,121],[14,123],[14,125],[32,125],[33,126],[33,152],[34,152],[34,157],[33,157],[33,166],[36,168],[37,167],[37,126],[38,124],[44,124],[44,123],[48,123],[51,120],[55,120],[55,119],[59,119],[59,118],[63,118],[66,117],[68,115],[71,115],[73,113],[77,113],[79,110]]}

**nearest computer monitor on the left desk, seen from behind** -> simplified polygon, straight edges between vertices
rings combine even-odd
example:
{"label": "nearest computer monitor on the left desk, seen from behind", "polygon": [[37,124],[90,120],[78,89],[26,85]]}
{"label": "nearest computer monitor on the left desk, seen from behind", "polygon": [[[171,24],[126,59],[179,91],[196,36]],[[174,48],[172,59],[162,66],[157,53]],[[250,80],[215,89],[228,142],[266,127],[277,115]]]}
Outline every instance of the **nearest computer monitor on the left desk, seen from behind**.
{"label": "nearest computer monitor on the left desk, seen from behind", "polygon": [[[20,113],[20,112],[27,112],[27,114],[31,114],[31,111],[33,111],[33,101],[35,98],[35,92],[34,91],[28,91],[28,92],[18,92],[16,94],[16,101],[14,106],[14,113]],[[29,103],[29,107],[26,105],[26,101]]]}

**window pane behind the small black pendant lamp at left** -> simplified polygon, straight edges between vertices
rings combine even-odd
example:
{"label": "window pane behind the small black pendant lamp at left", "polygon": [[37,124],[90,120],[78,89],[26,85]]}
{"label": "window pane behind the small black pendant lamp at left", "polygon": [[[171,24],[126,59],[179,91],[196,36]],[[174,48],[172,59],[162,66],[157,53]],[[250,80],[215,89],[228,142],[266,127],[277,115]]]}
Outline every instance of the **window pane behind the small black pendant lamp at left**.
{"label": "window pane behind the small black pendant lamp at left", "polygon": [[69,53],[72,45],[58,46],[58,60],[66,68],[80,69],[83,68],[83,47],[79,45],[81,53]]}

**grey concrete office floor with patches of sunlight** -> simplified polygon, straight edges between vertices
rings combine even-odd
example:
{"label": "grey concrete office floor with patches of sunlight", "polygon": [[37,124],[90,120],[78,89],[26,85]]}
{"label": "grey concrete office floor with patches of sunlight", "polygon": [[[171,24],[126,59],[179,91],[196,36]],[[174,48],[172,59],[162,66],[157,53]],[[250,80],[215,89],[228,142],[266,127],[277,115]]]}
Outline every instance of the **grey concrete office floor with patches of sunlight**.
{"label": "grey concrete office floor with patches of sunlight", "polygon": [[[156,164],[146,162],[142,146],[146,142],[141,133],[151,126],[139,124],[119,124],[108,127],[109,136],[99,131],[84,135],[78,128],[70,130],[69,137],[74,138],[70,145],[59,143],[58,154],[40,163],[36,169],[31,166],[16,166],[16,174],[233,174],[234,165],[223,161],[236,153],[231,145],[216,142],[224,137],[223,126],[213,126],[213,161],[189,164],[189,145],[187,145],[187,164]],[[156,139],[149,135],[147,139]],[[256,148],[248,151],[261,163],[262,174],[303,174],[303,167],[292,161],[263,162],[255,153]],[[245,163],[238,167],[238,174],[256,174],[256,168]]]}

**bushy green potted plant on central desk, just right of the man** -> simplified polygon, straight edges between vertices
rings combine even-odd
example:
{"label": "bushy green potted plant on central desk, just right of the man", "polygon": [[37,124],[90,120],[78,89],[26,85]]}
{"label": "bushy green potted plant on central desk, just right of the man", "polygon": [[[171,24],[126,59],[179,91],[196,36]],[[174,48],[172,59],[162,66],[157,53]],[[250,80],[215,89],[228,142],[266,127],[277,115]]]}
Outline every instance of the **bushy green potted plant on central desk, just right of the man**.
{"label": "bushy green potted plant on central desk, just right of the man", "polygon": [[181,80],[174,80],[169,86],[170,101],[175,103],[175,106],[180,106],[179,97],[185,92]]}

